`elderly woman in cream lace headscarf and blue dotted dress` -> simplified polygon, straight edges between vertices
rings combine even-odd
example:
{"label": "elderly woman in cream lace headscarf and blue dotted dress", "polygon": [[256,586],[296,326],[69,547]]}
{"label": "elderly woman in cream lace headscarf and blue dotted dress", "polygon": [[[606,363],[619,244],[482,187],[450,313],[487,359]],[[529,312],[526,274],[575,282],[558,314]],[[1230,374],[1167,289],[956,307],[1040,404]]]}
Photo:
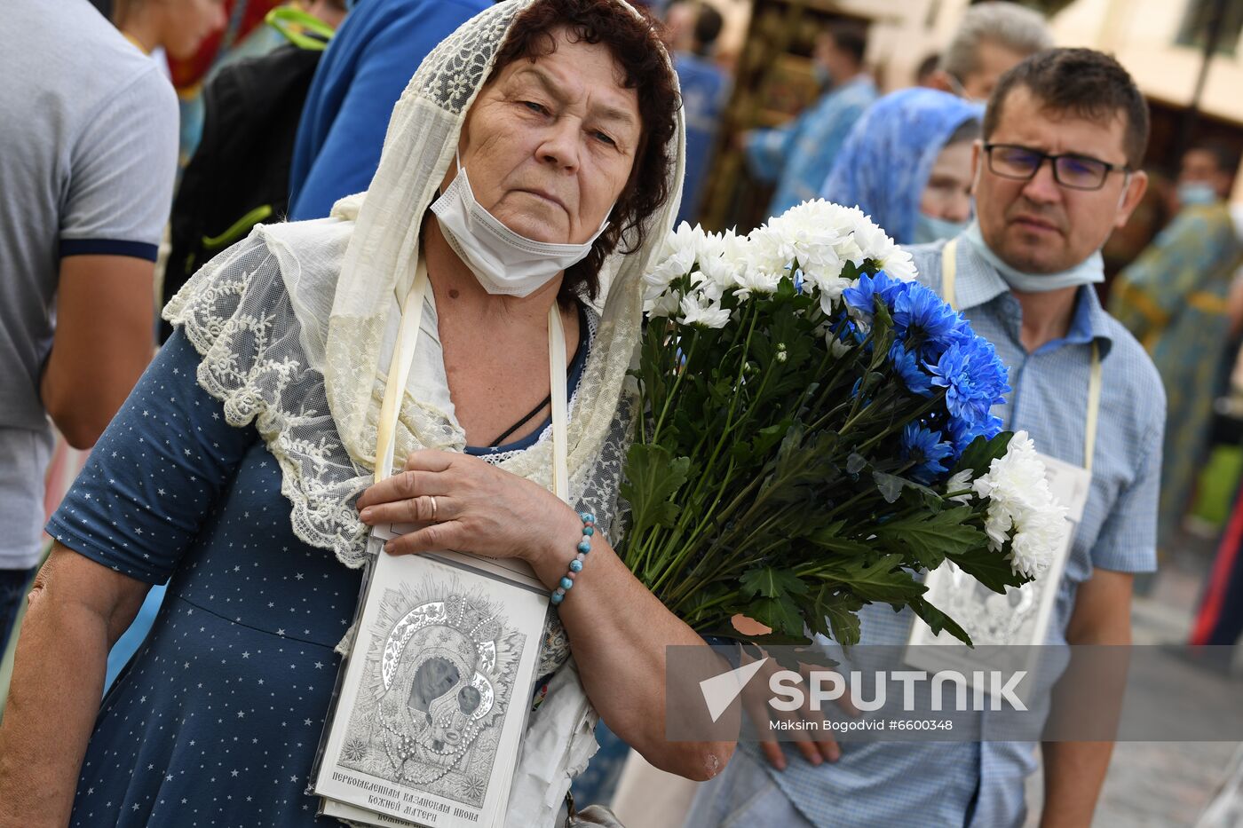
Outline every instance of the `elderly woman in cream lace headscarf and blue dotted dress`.
{"label": "elderly woman in cream lace headscarf and blue dotted dress", "polygon": [[[367,523],[392,520],[419,525],[394,553],[521,558],[552,588],[582,537],[577,512],[594,512],[528,729],[585,690],[583,707],[653,763],[718,772],[731,745],[664,738],[665,646],[701,642],[605,540],[639,278],[676,210],[681,145],[646,16],[620,0],[510,0],[420,67],[363,196],[332,219],[260,228],[195,275],[165,311],[174,337],[48,525],[57,545],[0,731],[0,823],[332,824],[306,788]],[[406,471],[368,489],[400,300],[421,272],[395,433]],[[558,327],[577,511],[548,491]],[[150,638],[97,711],[109,643],[165,578]],[[528,760],[553,766],[528,775],[542,801],[585,761],[576,736],[593,721],[528,735],[542,748],[520,776]],[[526,824],[541,821],[551,811]]]}

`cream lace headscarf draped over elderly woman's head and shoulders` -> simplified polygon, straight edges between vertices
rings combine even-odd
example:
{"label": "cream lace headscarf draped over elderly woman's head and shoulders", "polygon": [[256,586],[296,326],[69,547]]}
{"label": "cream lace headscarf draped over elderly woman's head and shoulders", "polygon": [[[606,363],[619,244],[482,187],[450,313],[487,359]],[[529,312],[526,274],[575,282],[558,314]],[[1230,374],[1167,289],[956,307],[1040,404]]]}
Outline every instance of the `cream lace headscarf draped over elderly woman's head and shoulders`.
{"label": "cream lace headscarf draped over elderly woman's head and shoulders", "polygon": [[[280,461],[295,533],[333,550],[347,566],[365,559],[365,527],[351,502],[369,484],[374,464],[394,297],[404,296],[414,277],[420,223],[452,163],[466,112],[510,26],[532,1],[506,0],[480,12],[428,55],[393,111],[367,193],[338,201],[331,219],[257,228],[200,270],[164,311],[203,354],[199,383],[222,400],[227,420],[255,421]],[[568,429],[572,501],[588,508],[612,497],[604,490],[615,494],[620,474],[615,446],[607,480],[598,461],[610,429],[617,431],[639,338],[640,278],[672,226],[681,194],[680,112],[669,149],[670,198],[648,218],[644,246],[614,252],[602,267],[610,276],[608,297]],[[618,249],[626,247],[623,239]],[[449,413],[405,394],[398,458],[464,446]],[[551,455],[551,441],[542,440],[497,465],[548,486]]]}

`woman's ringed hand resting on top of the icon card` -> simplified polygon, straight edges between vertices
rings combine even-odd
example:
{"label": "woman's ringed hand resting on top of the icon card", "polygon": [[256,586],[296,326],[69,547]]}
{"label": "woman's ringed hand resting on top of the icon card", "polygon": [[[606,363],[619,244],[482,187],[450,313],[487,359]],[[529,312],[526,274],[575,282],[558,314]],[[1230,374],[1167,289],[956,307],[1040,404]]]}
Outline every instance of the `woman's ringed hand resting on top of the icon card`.
{"label": "woman's ringed hand resting on top of the icon card", "polygon": [[556,495],[465,454],[424,449],[405,469],[358,499],[359,517],[420,528],[384,545],[393,554],[459,550],[533,566],[551,538],[577,537],[582,523]]}

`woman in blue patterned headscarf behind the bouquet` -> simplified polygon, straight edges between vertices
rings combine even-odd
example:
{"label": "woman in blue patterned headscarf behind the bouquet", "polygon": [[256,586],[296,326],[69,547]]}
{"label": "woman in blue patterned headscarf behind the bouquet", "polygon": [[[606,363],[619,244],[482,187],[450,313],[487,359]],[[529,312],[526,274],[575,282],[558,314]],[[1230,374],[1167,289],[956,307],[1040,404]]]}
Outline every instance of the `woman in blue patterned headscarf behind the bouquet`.
{"label": "woman in blue patterned headscarf behind the bouquet", "polygon": [[833,162],[820,198],[858,206],[899,244],[952,239],[971,219],[971,147],[981,107],[946,92],[878,101]]}

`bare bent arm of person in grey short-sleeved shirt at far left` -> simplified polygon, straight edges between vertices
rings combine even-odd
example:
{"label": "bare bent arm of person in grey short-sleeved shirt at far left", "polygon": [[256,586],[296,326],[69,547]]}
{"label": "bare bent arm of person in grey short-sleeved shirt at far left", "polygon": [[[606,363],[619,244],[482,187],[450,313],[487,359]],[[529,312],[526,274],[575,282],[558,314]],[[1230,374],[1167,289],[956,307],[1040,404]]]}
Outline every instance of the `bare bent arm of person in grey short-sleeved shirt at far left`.
{"label": "bare bent arm of person in grey short-sleeved shirt at far left", "polygon": [[150,362],[153,272],[149,261],[131,256],[61,261],[56,334],[40,395],[76,449],[94,445]]}

